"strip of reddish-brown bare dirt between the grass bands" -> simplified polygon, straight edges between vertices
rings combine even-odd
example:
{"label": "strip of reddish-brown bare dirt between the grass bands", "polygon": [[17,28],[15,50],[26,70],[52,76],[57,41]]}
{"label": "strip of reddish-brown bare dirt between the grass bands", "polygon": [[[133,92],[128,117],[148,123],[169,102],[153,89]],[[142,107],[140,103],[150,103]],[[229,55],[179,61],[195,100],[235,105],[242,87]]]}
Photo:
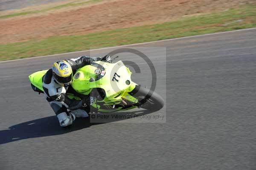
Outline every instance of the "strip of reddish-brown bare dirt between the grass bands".
{"label": "strip of reddish-brown bare dirt between the grass bands", "polygon": [[255,0],[116,0],[79,9],[0,20],[0,43],[163,23]]}

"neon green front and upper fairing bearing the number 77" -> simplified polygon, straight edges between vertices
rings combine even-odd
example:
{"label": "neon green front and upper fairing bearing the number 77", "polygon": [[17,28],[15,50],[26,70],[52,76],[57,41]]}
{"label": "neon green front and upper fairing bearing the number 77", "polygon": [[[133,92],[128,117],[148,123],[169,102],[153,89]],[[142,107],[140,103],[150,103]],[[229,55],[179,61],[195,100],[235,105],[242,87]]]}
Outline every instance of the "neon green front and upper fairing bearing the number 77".
{"label": "neon green front and upper fairing bearing the number 77", "polygon": [[[105,63],[102,61],[94,62],[99,64],[98,68],[105,71],[104,74],[99,73],[97,75],[95,65],[87,65],[77,70],[76,74],[73,76],[73,81],[71,86],[77,92],[84,95],[88,95],[93,88],[101,88],[105,90],[106,96],[105,101],[107,103],[122,100],[122,96],[125,92],[130,92],[132,89],[131,84],[135,87],[134,83],[131,81],[131,72],[123,64],[122,61],[117,63]],[[114,76],[116,74],[116,76]],[[116,79],[114,79],[114,77]],[[90,81],[91,80],[91,81]],[[130,84],[125,82],[129,81]],[[121,94],[121,95],[119,95]],[[119,95],[118,97],[116,97]],[[116,98],[114,98],[116,97]]]}

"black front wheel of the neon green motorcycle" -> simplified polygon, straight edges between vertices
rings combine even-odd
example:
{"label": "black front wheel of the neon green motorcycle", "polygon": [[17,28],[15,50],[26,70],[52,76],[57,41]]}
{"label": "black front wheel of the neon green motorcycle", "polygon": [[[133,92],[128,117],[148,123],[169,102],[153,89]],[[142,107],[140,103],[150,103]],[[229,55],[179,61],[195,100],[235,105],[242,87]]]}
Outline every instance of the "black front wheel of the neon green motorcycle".
{"label": "black front wheel of the neon green motorcycle", "polygon": [[136,86],[129,94],[138,99],[140,107],[143,109],[157,111],[164,106],[163,98],[146,87]]}

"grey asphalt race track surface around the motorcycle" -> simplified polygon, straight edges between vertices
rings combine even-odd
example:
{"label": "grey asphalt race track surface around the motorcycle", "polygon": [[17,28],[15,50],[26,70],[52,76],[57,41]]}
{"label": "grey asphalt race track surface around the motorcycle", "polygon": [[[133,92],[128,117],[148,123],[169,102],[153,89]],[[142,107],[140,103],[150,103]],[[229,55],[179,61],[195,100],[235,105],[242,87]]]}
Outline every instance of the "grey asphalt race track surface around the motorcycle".
{"label": "grey asphalt race track surface around the motorcycle", "polygon": [[[156,91],[166,95],[166,108],[158,111],[166,112],[166,123],[80,118],[62,129],[27,77],[89,52],[0,63],[0,169],[255,169],[256,29],[140,46],[166,47],[167,56],[147,49]],[[136,55],[120,56],[147,69]],[[133,80],[147,85],[150,77],[136,73]]]}

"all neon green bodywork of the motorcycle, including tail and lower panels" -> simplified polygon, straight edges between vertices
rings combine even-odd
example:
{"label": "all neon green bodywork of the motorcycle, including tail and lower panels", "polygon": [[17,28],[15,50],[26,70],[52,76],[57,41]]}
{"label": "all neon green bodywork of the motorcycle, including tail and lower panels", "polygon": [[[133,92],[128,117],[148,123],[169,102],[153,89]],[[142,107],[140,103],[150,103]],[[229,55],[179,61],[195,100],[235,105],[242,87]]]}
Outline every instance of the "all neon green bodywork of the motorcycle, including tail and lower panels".
{"label": "all neon green bodywork of the motorcycle, including tail and lower panels", "polygon": [[[100,71],[96,69],[100,69]],[[42,70],[29,75],[29,81],[42,91],[44,91],[42,87],[42,78],[47,71],[48,70]],[[92,104],[92,107],[97,108],[99,112],[116,112],[120,110],[133,109],[135,106],[125,109],[122,107],[113,108],[113,105],[121,104],[123,99],[133,103],[138,102],[137,98],[134,98],[128,93],[137,85],[131,81],[131,74],[131,71],[122,61],[118,61],[117,63],[96,61],[93,62],[92,65],[87,65],[78,69],[73,76],[71,86],[76,90],[76,92],[84,95],[89,95],[94,88],[104,89],[106,93],[105,98],[102,101],[95,101]],[[70,93],[67,95],[72,99],[80,99],[78,96]],[[101,103],[101,105],[99,103]],[[110,109],[103,109],[101,106],[107,106]]]}

